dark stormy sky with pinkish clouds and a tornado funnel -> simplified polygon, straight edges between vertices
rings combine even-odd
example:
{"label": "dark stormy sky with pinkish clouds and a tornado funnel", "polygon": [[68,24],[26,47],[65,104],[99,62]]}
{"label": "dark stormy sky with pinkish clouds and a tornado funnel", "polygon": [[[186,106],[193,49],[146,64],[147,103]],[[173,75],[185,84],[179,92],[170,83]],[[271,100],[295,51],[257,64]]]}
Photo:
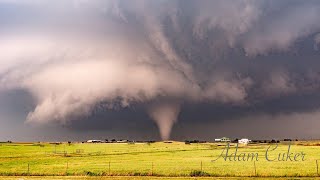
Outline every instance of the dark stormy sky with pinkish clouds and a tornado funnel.
{"label": "dark stormy sky with pinkish clouds and a tornado funnel", "polygon": [[318,0],[0,0],[0,141],[319,139]]}

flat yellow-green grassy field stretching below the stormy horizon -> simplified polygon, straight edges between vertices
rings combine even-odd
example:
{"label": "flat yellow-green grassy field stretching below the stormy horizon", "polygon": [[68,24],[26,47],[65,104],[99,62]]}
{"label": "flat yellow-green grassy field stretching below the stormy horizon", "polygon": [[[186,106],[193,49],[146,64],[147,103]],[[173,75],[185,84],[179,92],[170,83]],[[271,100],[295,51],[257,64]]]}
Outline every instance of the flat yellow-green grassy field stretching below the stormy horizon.
{"label": "flat yellow-green grassy field stretching below the stormy horizon", "polygon": [[[237,157],[218,158],[226,144],[184,142],[156,143],[2,143],[0,176],[154,176],[154,177],[317,177],[320,146],[317,142],[294,142],[290,153],[305,154],[290,161],[269,162],[265,153],[270,144],[239,146]],[[229,154],[236,144],[230,144]],[[288,143],[279,144],[269,159],[288,152]],[[226,151],[224,151],[226,153]],[[243,153],[258,153],[243,160]],[[299,159],[300,158],[300,159]],[[236,160],[236,161],[235,161]],[[320,162],[319,162],[320,165]],[[8,177],[10,178],[10,177]],[[67,177],[66,177],[67,178]]]}

